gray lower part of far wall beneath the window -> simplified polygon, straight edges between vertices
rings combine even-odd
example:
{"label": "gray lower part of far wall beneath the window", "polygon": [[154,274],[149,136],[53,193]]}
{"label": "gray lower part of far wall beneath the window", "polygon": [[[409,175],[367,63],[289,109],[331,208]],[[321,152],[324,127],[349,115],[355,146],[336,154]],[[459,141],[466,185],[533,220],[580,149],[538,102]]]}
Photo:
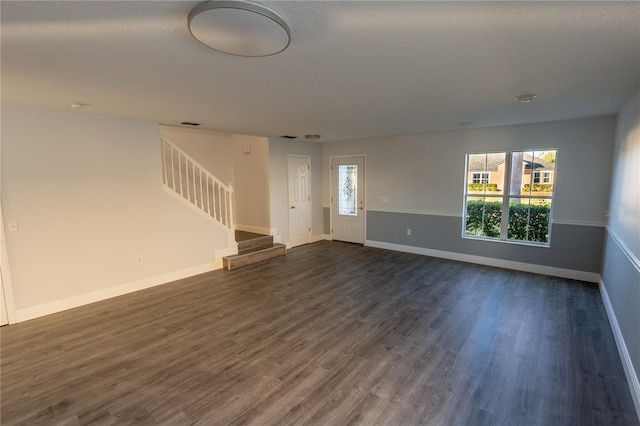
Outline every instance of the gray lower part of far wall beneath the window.
{"label": "gray lower part of far wall beneath the window", "polygon": [[600,272],[603,235],[602,226],[553,224],[551,247],[536,247],[462,238],[461,217],[367,211],[367,240],[583,272]]}

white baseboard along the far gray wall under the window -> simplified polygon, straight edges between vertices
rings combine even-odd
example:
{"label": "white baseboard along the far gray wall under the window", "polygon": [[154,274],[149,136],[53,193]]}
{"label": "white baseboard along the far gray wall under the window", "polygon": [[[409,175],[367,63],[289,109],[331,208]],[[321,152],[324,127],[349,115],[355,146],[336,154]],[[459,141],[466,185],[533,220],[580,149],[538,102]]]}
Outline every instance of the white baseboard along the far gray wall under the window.
{"label": "white baseboard along the far gray wall under the window", "polygon": [[536,265],[533,263],[516,262],[513,260],[494,259],[492,257],[434,250],[424,247],[406,246],[402,244],[386,243],[382,241],[366,240],[364,245],[368,247],[421,254],[424,256],[439,257],[442,259],[458,260],[461,262],[477,263],[480,265],[513,269],[516,271],[532,272],[534,274],[551,275],[554,277],[568,278],[572,280],[588,281],[592,283],[598,283],[601,280],[600,274],[594,272],[576,271],[573,269],[556,268],[553,266]]}

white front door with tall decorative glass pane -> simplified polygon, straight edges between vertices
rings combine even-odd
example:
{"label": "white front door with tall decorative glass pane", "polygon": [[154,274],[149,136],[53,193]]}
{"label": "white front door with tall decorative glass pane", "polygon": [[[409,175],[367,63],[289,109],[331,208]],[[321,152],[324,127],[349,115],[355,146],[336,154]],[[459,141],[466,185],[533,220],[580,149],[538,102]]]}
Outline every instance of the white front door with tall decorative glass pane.
{"label": "white front door with tall decorative glass pane", "polygon": [[364,157],[331,159],[331,227],[334,240],[364,244]]}

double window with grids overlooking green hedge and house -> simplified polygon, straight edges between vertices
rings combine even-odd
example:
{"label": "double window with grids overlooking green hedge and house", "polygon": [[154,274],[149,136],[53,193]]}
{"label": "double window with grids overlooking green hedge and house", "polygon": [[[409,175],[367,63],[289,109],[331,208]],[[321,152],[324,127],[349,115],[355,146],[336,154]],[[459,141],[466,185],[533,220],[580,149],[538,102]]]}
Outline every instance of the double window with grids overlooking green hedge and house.
{"label": "double window with grids overlooking green hedge and house", "polygon": [[548,246],[556,154],[468,154],[463,237]]}

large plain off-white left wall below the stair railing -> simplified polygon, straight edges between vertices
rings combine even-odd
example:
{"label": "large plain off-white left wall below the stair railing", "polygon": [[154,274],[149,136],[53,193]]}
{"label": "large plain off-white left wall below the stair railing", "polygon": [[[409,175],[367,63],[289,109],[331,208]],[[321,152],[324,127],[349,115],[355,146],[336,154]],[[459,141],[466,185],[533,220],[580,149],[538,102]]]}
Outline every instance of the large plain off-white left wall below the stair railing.
{"label": "large plain off-white left wall below the stair railing", "polygon": [[162,189],[159,141],[155,123],[3,104],[18,319],[213,269],[226,233]]}

